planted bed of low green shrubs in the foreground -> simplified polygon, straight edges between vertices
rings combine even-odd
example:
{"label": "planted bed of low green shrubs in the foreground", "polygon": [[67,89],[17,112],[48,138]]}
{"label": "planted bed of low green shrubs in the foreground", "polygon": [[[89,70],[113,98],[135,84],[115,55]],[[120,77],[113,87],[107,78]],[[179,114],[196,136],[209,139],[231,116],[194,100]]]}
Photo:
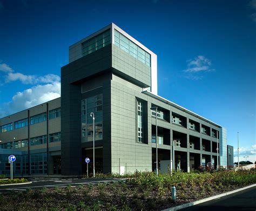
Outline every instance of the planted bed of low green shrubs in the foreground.
{"label": "planted bed of low green shrubs in the foreground", "polygon": [[[125,182],[0,194],[0,210],[160,210],[256,183],[256,171],[135,173]],[[177,200],[171,199],[176,186]]]}

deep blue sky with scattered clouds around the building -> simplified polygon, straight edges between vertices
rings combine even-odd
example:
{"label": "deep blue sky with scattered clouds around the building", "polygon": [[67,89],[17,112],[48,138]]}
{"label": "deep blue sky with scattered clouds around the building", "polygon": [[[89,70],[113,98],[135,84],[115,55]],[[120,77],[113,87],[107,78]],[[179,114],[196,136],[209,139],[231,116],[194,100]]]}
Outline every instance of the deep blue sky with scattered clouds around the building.
{"label": "deep blue sky with scattered clouds around the building", "polygon": [[157,54],[160,96],[256,160],[256,0],[0,0],[0,117],[59,97],[69,45],[111,22]]}

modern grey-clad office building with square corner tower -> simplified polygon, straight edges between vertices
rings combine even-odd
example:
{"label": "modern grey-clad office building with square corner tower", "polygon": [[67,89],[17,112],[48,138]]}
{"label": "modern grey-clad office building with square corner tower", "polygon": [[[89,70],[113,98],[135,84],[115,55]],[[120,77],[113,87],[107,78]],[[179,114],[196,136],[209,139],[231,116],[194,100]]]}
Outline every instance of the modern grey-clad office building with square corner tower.
{"label": "modern grey-clad office building with square corner tower", "polygon": [[157,55],[115,24],[69,47],[61,82],[61,99],[0,119],[0,174],[10,154],[16,174],[81,175],[86,157],[92,172],[91,112],[96,172],[154,171],[156,142],[159,169],[173,147],[176,169],[227,165],[225,128],[158,96]]}

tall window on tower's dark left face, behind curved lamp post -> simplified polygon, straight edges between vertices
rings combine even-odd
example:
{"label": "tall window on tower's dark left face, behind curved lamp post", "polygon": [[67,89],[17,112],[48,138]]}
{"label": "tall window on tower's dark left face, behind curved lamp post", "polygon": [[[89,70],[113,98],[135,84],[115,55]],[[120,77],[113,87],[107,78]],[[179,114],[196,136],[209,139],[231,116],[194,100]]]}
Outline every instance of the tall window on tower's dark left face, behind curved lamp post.
{"label": "tall window on tower's dark left face, behind curved lamp post", "polygon": [[102,94],[82,100],[82,142],[93,141],[93,120],[95,114],[95,140],[103,139]]}

